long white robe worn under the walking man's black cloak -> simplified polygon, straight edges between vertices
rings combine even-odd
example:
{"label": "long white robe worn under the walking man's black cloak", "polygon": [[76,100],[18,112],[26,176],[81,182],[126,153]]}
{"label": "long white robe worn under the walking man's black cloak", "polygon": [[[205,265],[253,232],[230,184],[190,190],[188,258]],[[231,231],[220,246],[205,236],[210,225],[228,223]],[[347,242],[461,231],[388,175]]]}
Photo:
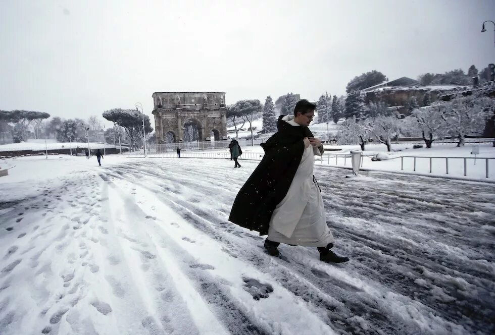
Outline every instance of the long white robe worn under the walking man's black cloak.
{"label": "long white robe worn under the walking man's black cloak", "polygon": [[[282,120],[300,126],[293,119],[285,116]],[[320,189],[313,180],[314,155],[322,153],[323,148],[320,151],[311,145],[304,149],[289,190],[270,219],[270,241],[308,247],[326,247],[335,241],[326,223]]]}

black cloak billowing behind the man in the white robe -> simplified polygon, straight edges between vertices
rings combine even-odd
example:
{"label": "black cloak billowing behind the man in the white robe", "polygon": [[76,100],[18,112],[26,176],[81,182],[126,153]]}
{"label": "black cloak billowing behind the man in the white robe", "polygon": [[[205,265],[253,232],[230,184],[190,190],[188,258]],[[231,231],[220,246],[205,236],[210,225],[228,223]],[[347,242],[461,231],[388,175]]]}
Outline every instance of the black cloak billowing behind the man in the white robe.
{"label": "black cloak billowing behind the man in the white robe", "polygon": [[277,132],[261,147],[265,156],[235,197],[229,221],[260,235],[268,234],[275,207],[287,194],[304,153],[305,137],[313,137],[306,126],[277,122]]}

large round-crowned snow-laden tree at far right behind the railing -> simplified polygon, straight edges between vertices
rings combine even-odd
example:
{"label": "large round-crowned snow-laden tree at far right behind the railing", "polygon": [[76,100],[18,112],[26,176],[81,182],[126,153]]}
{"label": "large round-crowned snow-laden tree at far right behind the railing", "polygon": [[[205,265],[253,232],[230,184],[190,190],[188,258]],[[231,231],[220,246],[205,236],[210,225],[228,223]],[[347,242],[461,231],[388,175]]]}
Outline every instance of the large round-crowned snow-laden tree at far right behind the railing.
{"label": "large round-crowned snow-laden tree at far right behind the railing", "polygon": [[447,131],[459,139],[457,146],[460,147],[464,146],[466,135],[482,132],[486,120],[493,115],[495,103],[482,94],[458,94],[445,106],[442,119]]}

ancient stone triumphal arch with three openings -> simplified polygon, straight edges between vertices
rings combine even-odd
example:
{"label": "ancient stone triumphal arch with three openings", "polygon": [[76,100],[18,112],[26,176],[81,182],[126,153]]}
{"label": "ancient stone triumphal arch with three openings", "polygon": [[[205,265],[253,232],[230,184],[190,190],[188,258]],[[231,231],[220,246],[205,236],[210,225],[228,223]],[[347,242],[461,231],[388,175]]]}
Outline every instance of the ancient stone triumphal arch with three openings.
{"label": "ancient stone triumphal arch with three openings", "polygon": [[197,127],[200,141],[227,139],[225,92],[155,92],[152,97],[157,144],[184,141],[187,123]]}

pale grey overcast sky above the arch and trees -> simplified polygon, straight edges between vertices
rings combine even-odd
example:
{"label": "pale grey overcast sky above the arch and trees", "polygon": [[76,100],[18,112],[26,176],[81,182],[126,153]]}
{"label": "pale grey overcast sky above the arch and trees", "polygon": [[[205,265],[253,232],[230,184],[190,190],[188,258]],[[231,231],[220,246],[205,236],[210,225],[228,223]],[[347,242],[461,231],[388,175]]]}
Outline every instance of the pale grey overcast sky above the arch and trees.
{"label": "pale grey overcast sky above the arch and trees", "polygon": [[226,102],[343,94],[379,70],[417,78],[495,62],[493,0],[0,0],[0,109],[101,116],[156,91]]}

